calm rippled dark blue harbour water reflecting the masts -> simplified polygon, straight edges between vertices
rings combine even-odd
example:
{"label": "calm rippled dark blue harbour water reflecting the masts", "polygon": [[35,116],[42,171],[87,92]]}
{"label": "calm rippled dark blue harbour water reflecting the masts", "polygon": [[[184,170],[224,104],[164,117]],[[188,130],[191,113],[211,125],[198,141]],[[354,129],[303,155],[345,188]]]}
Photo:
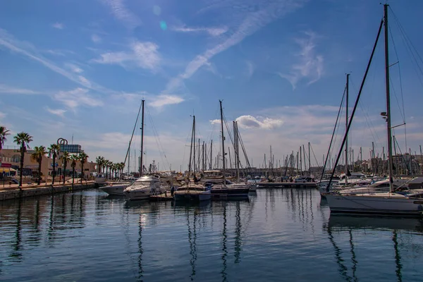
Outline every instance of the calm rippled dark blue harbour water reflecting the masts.
{"label": "calm rippled dark blue harbour water reflecting the masts", "polygon": [[125,202],[98,190],[0,203],[0,281],[421,281],[419,219],[330,216],[317,190]]}

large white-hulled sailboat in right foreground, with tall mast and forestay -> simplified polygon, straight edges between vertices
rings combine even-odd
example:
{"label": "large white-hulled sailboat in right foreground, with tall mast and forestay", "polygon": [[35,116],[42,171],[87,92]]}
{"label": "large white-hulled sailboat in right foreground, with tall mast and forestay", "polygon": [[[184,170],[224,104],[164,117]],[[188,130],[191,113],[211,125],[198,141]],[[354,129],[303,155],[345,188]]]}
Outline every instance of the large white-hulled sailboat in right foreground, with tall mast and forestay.
{"label": "large white-hulled sailboat in right foreground, with tall mast and forestay", "polygon": [[[347,127],[350,129],[351,122],[353,121],[353,116],[355,109],[357,109],[357,104],[360,99],[360,94],[362,92],[362,87],[364,85],[364,80],[369,71],[370,63],[372,62],[372,57],[376,49],[377,42],[379,41],[379,35],[381,34],[382,26],[384,26],[384,37],[385,37],[385,75],[386,75],[386,112],[381,113],[386,119],[386,130],[388,135],[388,171],[389,171],[389,188],[390,192],[386,193],[366,193],[360,195],[340,195],[338,193],[333,193],[326,195],[326,200],[329,204],[331,212],[341,212],[341,213],[357,213],[357,214],[395,214],[395,215],[408,215],[408,216],[421,216],[423,213],[423,199],[420,193],[415,194],[400,194],[396,193],[393,186],[393,158],[392,158],[392,137],[391,137],[391,102],[390,102],[390,92],[389,92],[389,61],[388,61],[388,4],[384,4],[384,18],[381,20],[379,26],[379,32],[376,37],[376,42],[374,43],[374,48],[372,55],[370,56],[369,63],[367,65],[367,70],[364,74],[364,79],[360,87],[360,92],[357,96],[355,106],[353,109],[353,114],[350,118]],[[346,134],[343,139],[343,145],[345,144]],[[339,156],[338,156],[339,159]],[[336,163],[338,162],[338,159]],[[332,174],[333,176],[333,174]],[[330,185],[330,183],[329,183]],[[329,190],[328,185],[328,190]],[[329,191],[328,191],[329,192]]]}

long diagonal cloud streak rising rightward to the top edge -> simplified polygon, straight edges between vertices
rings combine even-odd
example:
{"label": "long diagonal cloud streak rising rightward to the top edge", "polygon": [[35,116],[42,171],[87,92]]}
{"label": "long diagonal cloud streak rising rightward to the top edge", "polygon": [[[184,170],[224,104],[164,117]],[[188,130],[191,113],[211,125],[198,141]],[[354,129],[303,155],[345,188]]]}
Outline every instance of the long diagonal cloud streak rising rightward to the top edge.
{"label": "long diagonal cloud streak rising rightward to the top edge", "polygon": [[[185,71],[180,73],[169,80],[166,85],[166,90],[164,93],[173,92],[174,90],[183,86],[183,80],[190,78],[194,73],[198,71],[199,68],[204,66],[207,61],[212,59],[216,54],[225,51],[226,49],[233,47],[234,45],[240,43],[257,30],[260,30],[262,27],[268,25],[274,20],[281,18],[282,16],[294,11],[297,8],[300,8],[306,0],[290,1],[290,0],[278,0],[271,2],[264,2],[261,8],[258,11],[243,13],[243,20],[238,25],[238,27],[231,32],[231,36],[225,39],[220,44],[217,44],[212,49],[207,49],[203,54],[197,55],[188,65],[185,67]],[[255,3],[250,3],[251,5],[256,5]],[[248,6],[248,4],[245,4]]]}

